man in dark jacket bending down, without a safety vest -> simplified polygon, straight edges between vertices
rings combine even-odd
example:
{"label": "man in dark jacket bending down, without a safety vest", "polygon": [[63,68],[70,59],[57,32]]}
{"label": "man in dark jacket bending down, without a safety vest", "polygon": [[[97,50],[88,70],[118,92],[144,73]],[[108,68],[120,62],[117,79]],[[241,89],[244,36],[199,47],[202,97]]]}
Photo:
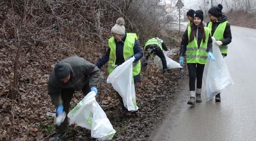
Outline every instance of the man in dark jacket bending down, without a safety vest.
{"label": "man in dark jacket bending down, without a safety vest", "polygon": [[[74,91],[82,90],[84,96],[90,91],[98,94],[96,87],[99,76],[98,67],[83,58],[72,56],[60,61],[51,71],[48,81],[48,94],[52,104],[57,107],[56,117],[64,112],[69,113]],[[66,115],[64,122],[56,126],[56,134],[49,141],[61,141],[67,137],[67,121]]]}

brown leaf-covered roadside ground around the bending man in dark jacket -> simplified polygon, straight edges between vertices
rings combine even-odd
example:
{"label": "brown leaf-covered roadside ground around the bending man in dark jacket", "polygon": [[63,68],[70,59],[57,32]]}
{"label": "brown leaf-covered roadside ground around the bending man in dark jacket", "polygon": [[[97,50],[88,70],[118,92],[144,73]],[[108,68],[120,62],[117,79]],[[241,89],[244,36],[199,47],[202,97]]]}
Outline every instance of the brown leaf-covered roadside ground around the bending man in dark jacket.
{"label": "brown leaf-covered roadside ground around the bending man in dark jacket", "polygon": [[[163,36],[169,49],[178,52],[181,35],[177,32]],[[65,43],[65,42],[60,42]],[[6,47],[8,46],[8,47]],[[0,44],[0,141],[48,141],[54,135],[54,117],[47,113],[55,113],[47,95],[47,81],[50,71],[60,58],[72,55],[82,56],[81,48],[65,48],[61,53],[55,46],[40,45],[27,52],[21,52],[18,75],[18,92],[15,100],[10,99],[10,83],[13,77],[13,64],[17,48],[12,41]],[[98,52],[87,52],[95,56],[85,59],[95,63],[101,56]],[[61,55],[61,56],[60,56]],[[178,62],[179,55],[170,56]],[[139,110],[131,117],[121,115],[121,105],[116,92],[106,83],[107,72],[103,67],[99,83],[100,94],[97,99],[106,112],[116,134],[114,141],[147,141],[151,133],[161,123],[165,110],[169,108],[179,90],[180,79],[184,69],[170,70],[163,74],[151,62],[147,70],[142,72],[141,83],[136,84],[137,104]],[[149,69],[150,68],[150,69]],[[71,109],[83,98],[80,92],[74,94]],[[68,128],[68,141],[90,141],[90,132],[77,126]]]}

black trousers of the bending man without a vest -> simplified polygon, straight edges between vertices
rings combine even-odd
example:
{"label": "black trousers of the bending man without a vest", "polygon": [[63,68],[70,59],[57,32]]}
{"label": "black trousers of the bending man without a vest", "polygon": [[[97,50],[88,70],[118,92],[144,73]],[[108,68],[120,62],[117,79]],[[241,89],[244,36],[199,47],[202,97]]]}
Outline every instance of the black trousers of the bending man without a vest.
{"label": "black trousers of the bending man without a vest", "polygon": [[[74,91],[75,90],[73,88],[66,88],[66,89],[61,90],[61,98],[62,98],[63,107],[64,107],[63,110],[66,112],[67,115],[69,113],[70,102],[73,97]],[[82,88],[82,92],[83,92],[84,96],[86,96],[90,92],[89,84],[86,84]],[[65,133],[66,132],[66,129],[68,127],[68,116],[67,115],[66,115],[64,122],[60,126],[56,126],[56,129],[55,129],[56,133]]]}

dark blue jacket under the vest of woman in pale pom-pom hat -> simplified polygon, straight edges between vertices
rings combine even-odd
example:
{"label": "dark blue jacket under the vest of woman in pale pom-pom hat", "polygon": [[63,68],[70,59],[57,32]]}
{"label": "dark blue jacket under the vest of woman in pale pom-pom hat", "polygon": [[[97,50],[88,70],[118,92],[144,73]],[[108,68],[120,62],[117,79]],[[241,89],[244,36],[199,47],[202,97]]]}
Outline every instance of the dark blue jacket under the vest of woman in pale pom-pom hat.
{"label": "dark blue jacket under the vest of woman in pale pom-pom hat", "polygon": [[[125,62],[124,57],[123,57],[123,47],[124,47],[124,41],[126,39],[126,35],[125,34],[122,37],[122,41],[117,42],[115,40],[115,54],[116,54],[116,61],[115,61],[115,65],[121,65]],[[135,39],[135,43],[134,43],[134,47],[133,47],[133,52],[134,52],[134,57],[136,58],[135,61],[140,60],[143,57],[143,52],[142,52],[142,48],[139,45],[139,41]],[[110,47],[108,48],[107,52],[105,53],[105,55],[100,58],[96,64],[96,66],[100,69],[104,64],[106,64],[109,61],[110,58]],[[141,79],[141,75],[138,74],[136,76],[134,76],[134,81],[135,82],[139,82]]]}

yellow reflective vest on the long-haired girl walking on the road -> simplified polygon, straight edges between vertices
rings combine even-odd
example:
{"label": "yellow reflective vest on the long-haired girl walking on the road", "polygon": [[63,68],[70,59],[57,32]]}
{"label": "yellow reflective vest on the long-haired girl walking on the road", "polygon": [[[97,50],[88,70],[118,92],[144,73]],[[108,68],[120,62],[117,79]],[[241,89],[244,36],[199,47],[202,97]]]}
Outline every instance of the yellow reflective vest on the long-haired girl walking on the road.
{"label": "yellow reflective vest on the long-haired girl walking on the road", "polygon": [[[191,27],[187,28],[187,35],[188,40],[190,38],[191,34]],[[194,40],[188,43],[186,46],[186,63],[199,63],[199,64],[205,64],[207,60],[207,44],[208,39],[210,35],[210,30],[207,27],[204,27],[205,30],[205,42],[203,42],[203,39],[200,43],[200,47],[198,48],[196,37],[194,37]]]}

